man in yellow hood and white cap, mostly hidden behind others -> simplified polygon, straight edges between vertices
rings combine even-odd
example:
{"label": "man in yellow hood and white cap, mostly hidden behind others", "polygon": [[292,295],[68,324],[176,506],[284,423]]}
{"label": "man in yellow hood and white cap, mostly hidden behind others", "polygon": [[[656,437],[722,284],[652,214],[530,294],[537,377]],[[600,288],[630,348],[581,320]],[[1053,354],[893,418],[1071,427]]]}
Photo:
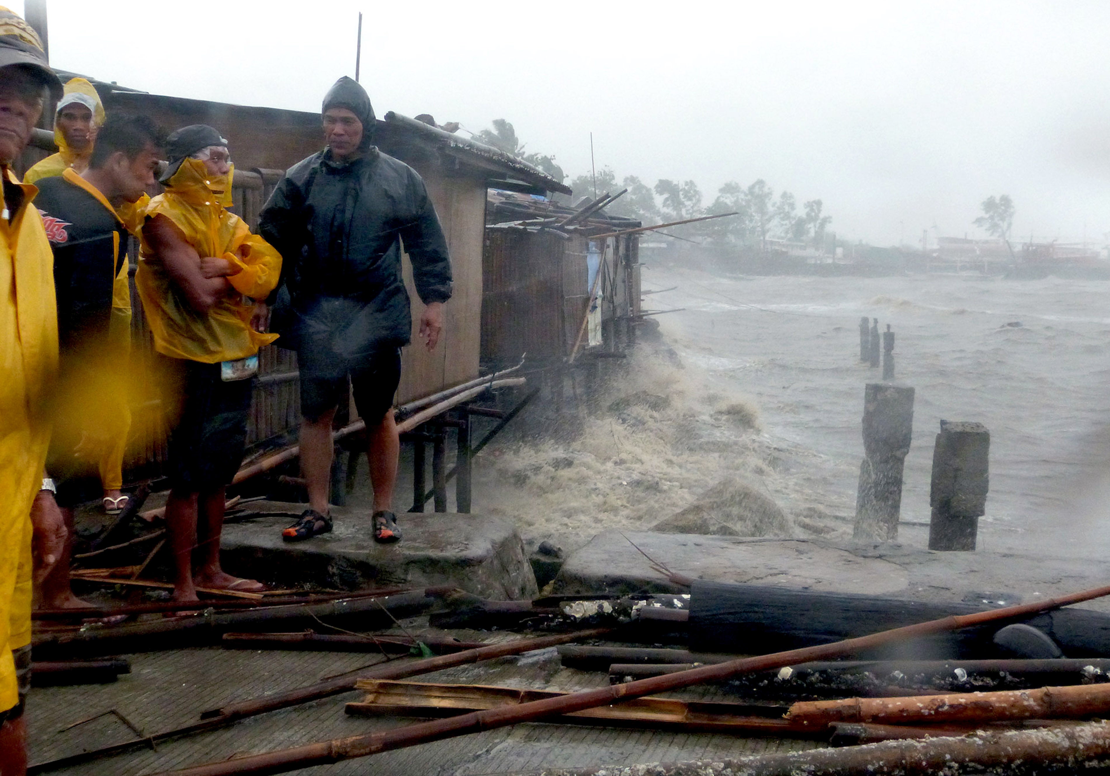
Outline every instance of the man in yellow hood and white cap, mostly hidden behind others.
{"label": "man in yellow hood and white cap, mostly hidden behind others", "polygon": [[[104,121],[104,105],[97,89],[83,78],[70,79],[54,111],[54,142],[59,151],[28,170],[23,182],[37,183],[44,178],[60,177],[65,170],[72,170],[79,175],[84,173]],[[148,202],[150,198],[143,194],[139,201],[124,202],[118,209],[118,215],[130,231],[139,229],[140,213]],[[112,366],[120,372],[127,370],[131,356],[130,270],[131,264],[124,255],[115,276],[111,319],[111,342],[114,345]],[[115,429],[112,444],[104,446],[99,462],[100,481],[104,488],[102,503],[108,514],[118,515],[128,504],[128,497],[120,491],[123,487],[123,454],[127,451],[128,430],[131,427],[131,407],[128,402],[118,402],[109,410],[105,420],[114,421]]]}

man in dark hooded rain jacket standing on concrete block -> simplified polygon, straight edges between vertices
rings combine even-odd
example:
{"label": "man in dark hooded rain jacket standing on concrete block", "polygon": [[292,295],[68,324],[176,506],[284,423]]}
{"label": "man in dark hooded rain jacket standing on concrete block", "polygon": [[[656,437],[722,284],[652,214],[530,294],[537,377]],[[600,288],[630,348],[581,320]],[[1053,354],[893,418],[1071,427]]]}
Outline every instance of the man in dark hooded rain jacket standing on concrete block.
{"label": "man in dark hooded rain jacket standing on concrete block", "polygon": [[301,370],[301,465],[310,508],[283,532],[287,541],[332,530],[331,430],[349,376],[370,442],[374,538],[401,538],[391,512],[400,451],[393,395],[412,312],[400,243],[425,305],[420,336],[430,351],[451,298],[447,244],[424,181],[371,144],[374,121],[365,90],[346,77],[336,81],[323,104],[327,149],[291,168],[259,216],[260,233],[284,260],[274,329],[284,346],[296,350]]}

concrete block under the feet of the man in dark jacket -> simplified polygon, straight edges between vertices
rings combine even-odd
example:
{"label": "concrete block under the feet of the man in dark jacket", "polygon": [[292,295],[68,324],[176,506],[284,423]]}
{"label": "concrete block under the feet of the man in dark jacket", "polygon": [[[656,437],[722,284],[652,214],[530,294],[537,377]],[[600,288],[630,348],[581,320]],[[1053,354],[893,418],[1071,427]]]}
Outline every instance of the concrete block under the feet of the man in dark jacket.
{"label": "concrete block under the feet of the man in dark jacket", "polygon": [[495,599],[529,598],[537,593],[519,534],[497,517],[403,514],[397,524],[404,538],[377,544],[369,514],[333,506],[332,533],[287,543],[281,537],[282,528],[304,504],[252,502],[248,506],[249,513],[259,516],[225,525],[220,543],[224,568],[232,574],[279,587],[451,584]]}

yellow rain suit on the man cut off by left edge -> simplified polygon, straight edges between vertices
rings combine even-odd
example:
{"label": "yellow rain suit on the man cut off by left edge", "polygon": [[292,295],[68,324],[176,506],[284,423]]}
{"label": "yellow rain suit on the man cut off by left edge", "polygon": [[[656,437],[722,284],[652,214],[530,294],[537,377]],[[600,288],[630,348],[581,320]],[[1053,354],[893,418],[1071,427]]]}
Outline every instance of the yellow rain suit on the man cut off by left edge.
{"label": "yellow rain suit on the man cut off by left edge", "polygon": [[53,259],[31,204],[36,189],[23,190],[11,223],[0,219],[0,711],[18,702],[11,651],[31,643],[31,502],[42,484],[50,440],[42,410],[58,369]]}

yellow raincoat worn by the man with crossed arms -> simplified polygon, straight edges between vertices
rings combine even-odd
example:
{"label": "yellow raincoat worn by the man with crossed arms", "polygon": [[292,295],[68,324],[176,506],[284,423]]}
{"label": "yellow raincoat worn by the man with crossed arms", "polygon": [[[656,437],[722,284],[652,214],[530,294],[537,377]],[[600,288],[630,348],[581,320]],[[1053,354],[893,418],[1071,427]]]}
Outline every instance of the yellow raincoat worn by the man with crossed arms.
{"label": "yellow raincoat worn by the man with crossed arms", "polygon": [[145,215],[164,215],[182,231],[200,256],[221,256],[238,270],[228,281],[239,293],[228,294],[212,310],[198,313],[173,285],[169,273],[141,238],[135,285],[154,335],[154,350],[173,359],[214,364],[258,353],[276,334],[251,329],[254,300],[278,285],[281,255],[225,208],[231,204],[232,172],[213,178],[204,162],[186,159],[155,196]]}

